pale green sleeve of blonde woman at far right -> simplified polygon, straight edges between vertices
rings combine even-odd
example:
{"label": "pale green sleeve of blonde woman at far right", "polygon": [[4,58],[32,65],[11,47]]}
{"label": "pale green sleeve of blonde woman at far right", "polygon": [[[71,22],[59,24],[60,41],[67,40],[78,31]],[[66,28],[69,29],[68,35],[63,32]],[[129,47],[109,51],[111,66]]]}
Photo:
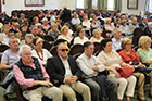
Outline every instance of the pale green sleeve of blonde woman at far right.
{"label": "pale green sleeve of blonde woman at far right", "polygon": [[143,63],[150,63],[150,60],[145,55],[145,53],[142,50],[137,51],[137,56],[143,62]]}

